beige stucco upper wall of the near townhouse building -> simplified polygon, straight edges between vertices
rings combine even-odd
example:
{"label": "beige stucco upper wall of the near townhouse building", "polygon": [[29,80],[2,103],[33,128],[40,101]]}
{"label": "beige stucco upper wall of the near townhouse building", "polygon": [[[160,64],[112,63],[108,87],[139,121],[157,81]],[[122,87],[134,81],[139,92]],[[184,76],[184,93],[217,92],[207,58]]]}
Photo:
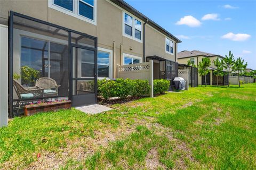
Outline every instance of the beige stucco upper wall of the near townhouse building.
{"label": "beige stucco upper wall of the near townhouse building", "polygon": [[[5,21],[4,24],[7,24],[10,11],[98,37],[98,47],[101,48],[113,50],[113,42],[115,42],[114,70],[117,64],[122,65],[123,53],[141,57],[141,61],[143,61],[143,43],[123,36],[123,9],[109,1],[97,1],[97,25],[54,10],[48,7],[47,0],[0,1],[0,18],[1,21]],[[175,61],[174,54],[171,55],[165,52],[166,36],[149,25],[146,25],[145,29],[146,56],[157,55]],[[174,47],[174,53],[176,51],[177,47]]]}

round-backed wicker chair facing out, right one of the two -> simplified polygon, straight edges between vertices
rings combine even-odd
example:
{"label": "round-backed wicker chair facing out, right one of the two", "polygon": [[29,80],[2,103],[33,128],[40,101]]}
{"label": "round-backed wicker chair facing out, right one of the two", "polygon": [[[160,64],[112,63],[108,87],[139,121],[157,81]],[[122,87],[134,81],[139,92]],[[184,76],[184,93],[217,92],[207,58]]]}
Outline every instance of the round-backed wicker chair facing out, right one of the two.
{"label": "round-backed wicker chair facing out, right one of the two", "polygon": [[36,86],[44,89],[44,96],[58,96],[60,85],[51,78],[39,78],[36,80]]}

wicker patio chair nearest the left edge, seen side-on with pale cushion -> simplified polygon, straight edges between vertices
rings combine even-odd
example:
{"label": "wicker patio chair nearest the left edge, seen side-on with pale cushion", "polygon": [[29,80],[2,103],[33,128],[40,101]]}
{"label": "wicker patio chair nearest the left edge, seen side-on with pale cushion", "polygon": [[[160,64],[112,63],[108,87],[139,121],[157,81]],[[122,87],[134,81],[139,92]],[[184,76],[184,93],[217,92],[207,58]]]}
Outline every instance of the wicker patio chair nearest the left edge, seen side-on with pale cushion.
{"label": "wicker patio chair nearest the left edge, seen side-on with pale cushion", "polygon": [[32,100],[28,100],[29,98],[38,98],[38,97],[43,97],[43,88],[39,88],[37,86],[35,87],[23,87],[19,81],[13,79],[13,88],[15,90],[15,92],[18,95],[18,98],[20,99],[20,101],[17,101],[17,105],[19,105],[18,107],[18,111],[20,109],[21,104],[24,104],[25,100],[21,100],[21,99],[27,99],[26,101],[32,101]]}

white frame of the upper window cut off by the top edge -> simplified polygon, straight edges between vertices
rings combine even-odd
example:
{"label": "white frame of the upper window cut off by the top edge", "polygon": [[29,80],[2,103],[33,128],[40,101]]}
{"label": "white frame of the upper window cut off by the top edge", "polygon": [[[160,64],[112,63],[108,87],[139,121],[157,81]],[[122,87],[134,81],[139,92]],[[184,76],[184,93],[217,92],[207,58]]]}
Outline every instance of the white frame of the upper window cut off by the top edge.
{"label": "white frame of the upper window cut off by the top edge", "polygon": [[80,20],[83,20],[83,21],[89,22],[91,24],[97,25],[97,0],[93,0],[94,1],[93,2],[94,6],[88,4],[84,1],[81,1],[84,4],[93,7],[93,20],[91,20],[89,18],[86,18],[85,16],[79,14],[79,1],[81,1],[81,0],[73,0],[73,10],[74,11],[67,10],[66,8],[63,8],[59,5],[54,4],[53,3],[54,0],[48,0],[48,7],[53,8],[54,10],[63,12],[67,15],[74,16],[75,18],[78,18]]}

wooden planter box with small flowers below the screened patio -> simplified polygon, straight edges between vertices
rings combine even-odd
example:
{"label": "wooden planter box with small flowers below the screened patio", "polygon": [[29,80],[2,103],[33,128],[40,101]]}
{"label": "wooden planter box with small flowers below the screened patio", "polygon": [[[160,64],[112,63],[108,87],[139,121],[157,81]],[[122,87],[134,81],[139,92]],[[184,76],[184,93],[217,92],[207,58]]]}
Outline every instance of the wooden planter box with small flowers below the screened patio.
{"label": "wooden planter box with small flowers below the screened patio", "polygon": [[55,100],[41,102],[38,101],[35,103],[30,103],[24,107],[25,115],[30,116],[38,112],[49,112],[49,111],[58,111],[59,109],[70,109],[71,101],[70,100]]}

